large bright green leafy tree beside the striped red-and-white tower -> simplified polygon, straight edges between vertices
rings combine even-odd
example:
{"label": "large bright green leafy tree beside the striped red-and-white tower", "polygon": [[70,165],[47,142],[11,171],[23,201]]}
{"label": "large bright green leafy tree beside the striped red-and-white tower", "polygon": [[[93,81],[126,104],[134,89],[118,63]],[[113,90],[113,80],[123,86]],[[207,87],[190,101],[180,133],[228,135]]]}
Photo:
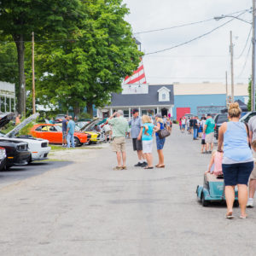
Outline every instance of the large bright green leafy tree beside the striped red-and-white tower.
{"label": "large bright green leafy tree beside the striped red-and-white tower", "polygon": [[119,92],[125,76],[137,68],[142,53],[125,21],[129,9],[121,0],[83,2],[74,40],[37,47],[37,84],[40,102],[73,108],[102,107],[111,92]]}

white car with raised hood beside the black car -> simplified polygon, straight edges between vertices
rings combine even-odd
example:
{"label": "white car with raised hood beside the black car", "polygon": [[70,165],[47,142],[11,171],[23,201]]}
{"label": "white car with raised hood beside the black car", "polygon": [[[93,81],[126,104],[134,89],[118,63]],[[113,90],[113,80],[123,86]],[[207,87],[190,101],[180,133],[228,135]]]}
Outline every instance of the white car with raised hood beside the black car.
{"label": "white car with raised hood beside the black car", "polygon": [[[0,127],[6,125],[8,123],[8,120],[11,119],[11,116],[13,113],[9,113],[2,117],[0,122]],[[9,131],[7,134],[3,134],[0,132],[0,142],[2,140],[10,140],[10,141],[18,141],[18,142],[24,142],[28,144],[28,151],[31,153],[31,157],[29,162],[36,161],[36,160],[46,160],[47,156],[50,151],[49,147],[49,141],[34,138],[32,136],[20,136],[15,137],[16,134],[27,124],[32,122],[33,119],[36,119],[38,117],[38,113],[30,116],[29,118],[25,119],[23,122],[20,123],[20,125],[15,126],[15,128],[12,131]]]}

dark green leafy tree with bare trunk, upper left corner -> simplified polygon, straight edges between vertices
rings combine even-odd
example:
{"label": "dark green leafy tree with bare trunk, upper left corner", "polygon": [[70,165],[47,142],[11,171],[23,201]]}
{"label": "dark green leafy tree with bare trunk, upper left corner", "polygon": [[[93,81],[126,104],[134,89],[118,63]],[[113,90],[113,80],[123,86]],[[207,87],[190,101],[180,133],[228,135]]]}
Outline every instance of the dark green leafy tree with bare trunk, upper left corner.
{"label": "dark green leafy tree with bare trunk, upper left corner", "polygon": [[76,29],[79,0],[1,0],[0,30],[3,36],[11,36],[17,49],[19,67],[18,111],[25,113],[25,42],[31,41],[32,32],[36,38],[67,38]]}

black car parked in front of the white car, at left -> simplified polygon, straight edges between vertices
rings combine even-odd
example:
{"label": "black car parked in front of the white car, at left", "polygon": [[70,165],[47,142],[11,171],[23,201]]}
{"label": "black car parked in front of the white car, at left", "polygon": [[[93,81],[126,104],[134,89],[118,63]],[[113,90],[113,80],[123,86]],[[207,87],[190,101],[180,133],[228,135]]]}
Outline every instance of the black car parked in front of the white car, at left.
{"label": "black car parked in front of the white car, at left", "polygon": [[31,153],[28,151],[28,144],[17,140],[2,139],[0,147],[6,150],[6,168],[11,166],[27,165],[31,159]]}

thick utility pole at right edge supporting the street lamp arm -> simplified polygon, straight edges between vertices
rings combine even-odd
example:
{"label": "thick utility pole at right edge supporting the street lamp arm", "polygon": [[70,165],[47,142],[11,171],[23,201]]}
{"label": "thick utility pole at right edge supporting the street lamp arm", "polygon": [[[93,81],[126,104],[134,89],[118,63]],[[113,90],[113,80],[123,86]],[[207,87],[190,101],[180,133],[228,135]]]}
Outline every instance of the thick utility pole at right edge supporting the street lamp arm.
{"label": "thick utility pole at right edge supporting the street lamp arm", "polygon": [[255,110],[255,84],[256,84],[256,53],[255,53],[255,38],[256,38],[256,0],[253,0],[253,75],[252,75],[252,86],[251,86],[251,110]]}

